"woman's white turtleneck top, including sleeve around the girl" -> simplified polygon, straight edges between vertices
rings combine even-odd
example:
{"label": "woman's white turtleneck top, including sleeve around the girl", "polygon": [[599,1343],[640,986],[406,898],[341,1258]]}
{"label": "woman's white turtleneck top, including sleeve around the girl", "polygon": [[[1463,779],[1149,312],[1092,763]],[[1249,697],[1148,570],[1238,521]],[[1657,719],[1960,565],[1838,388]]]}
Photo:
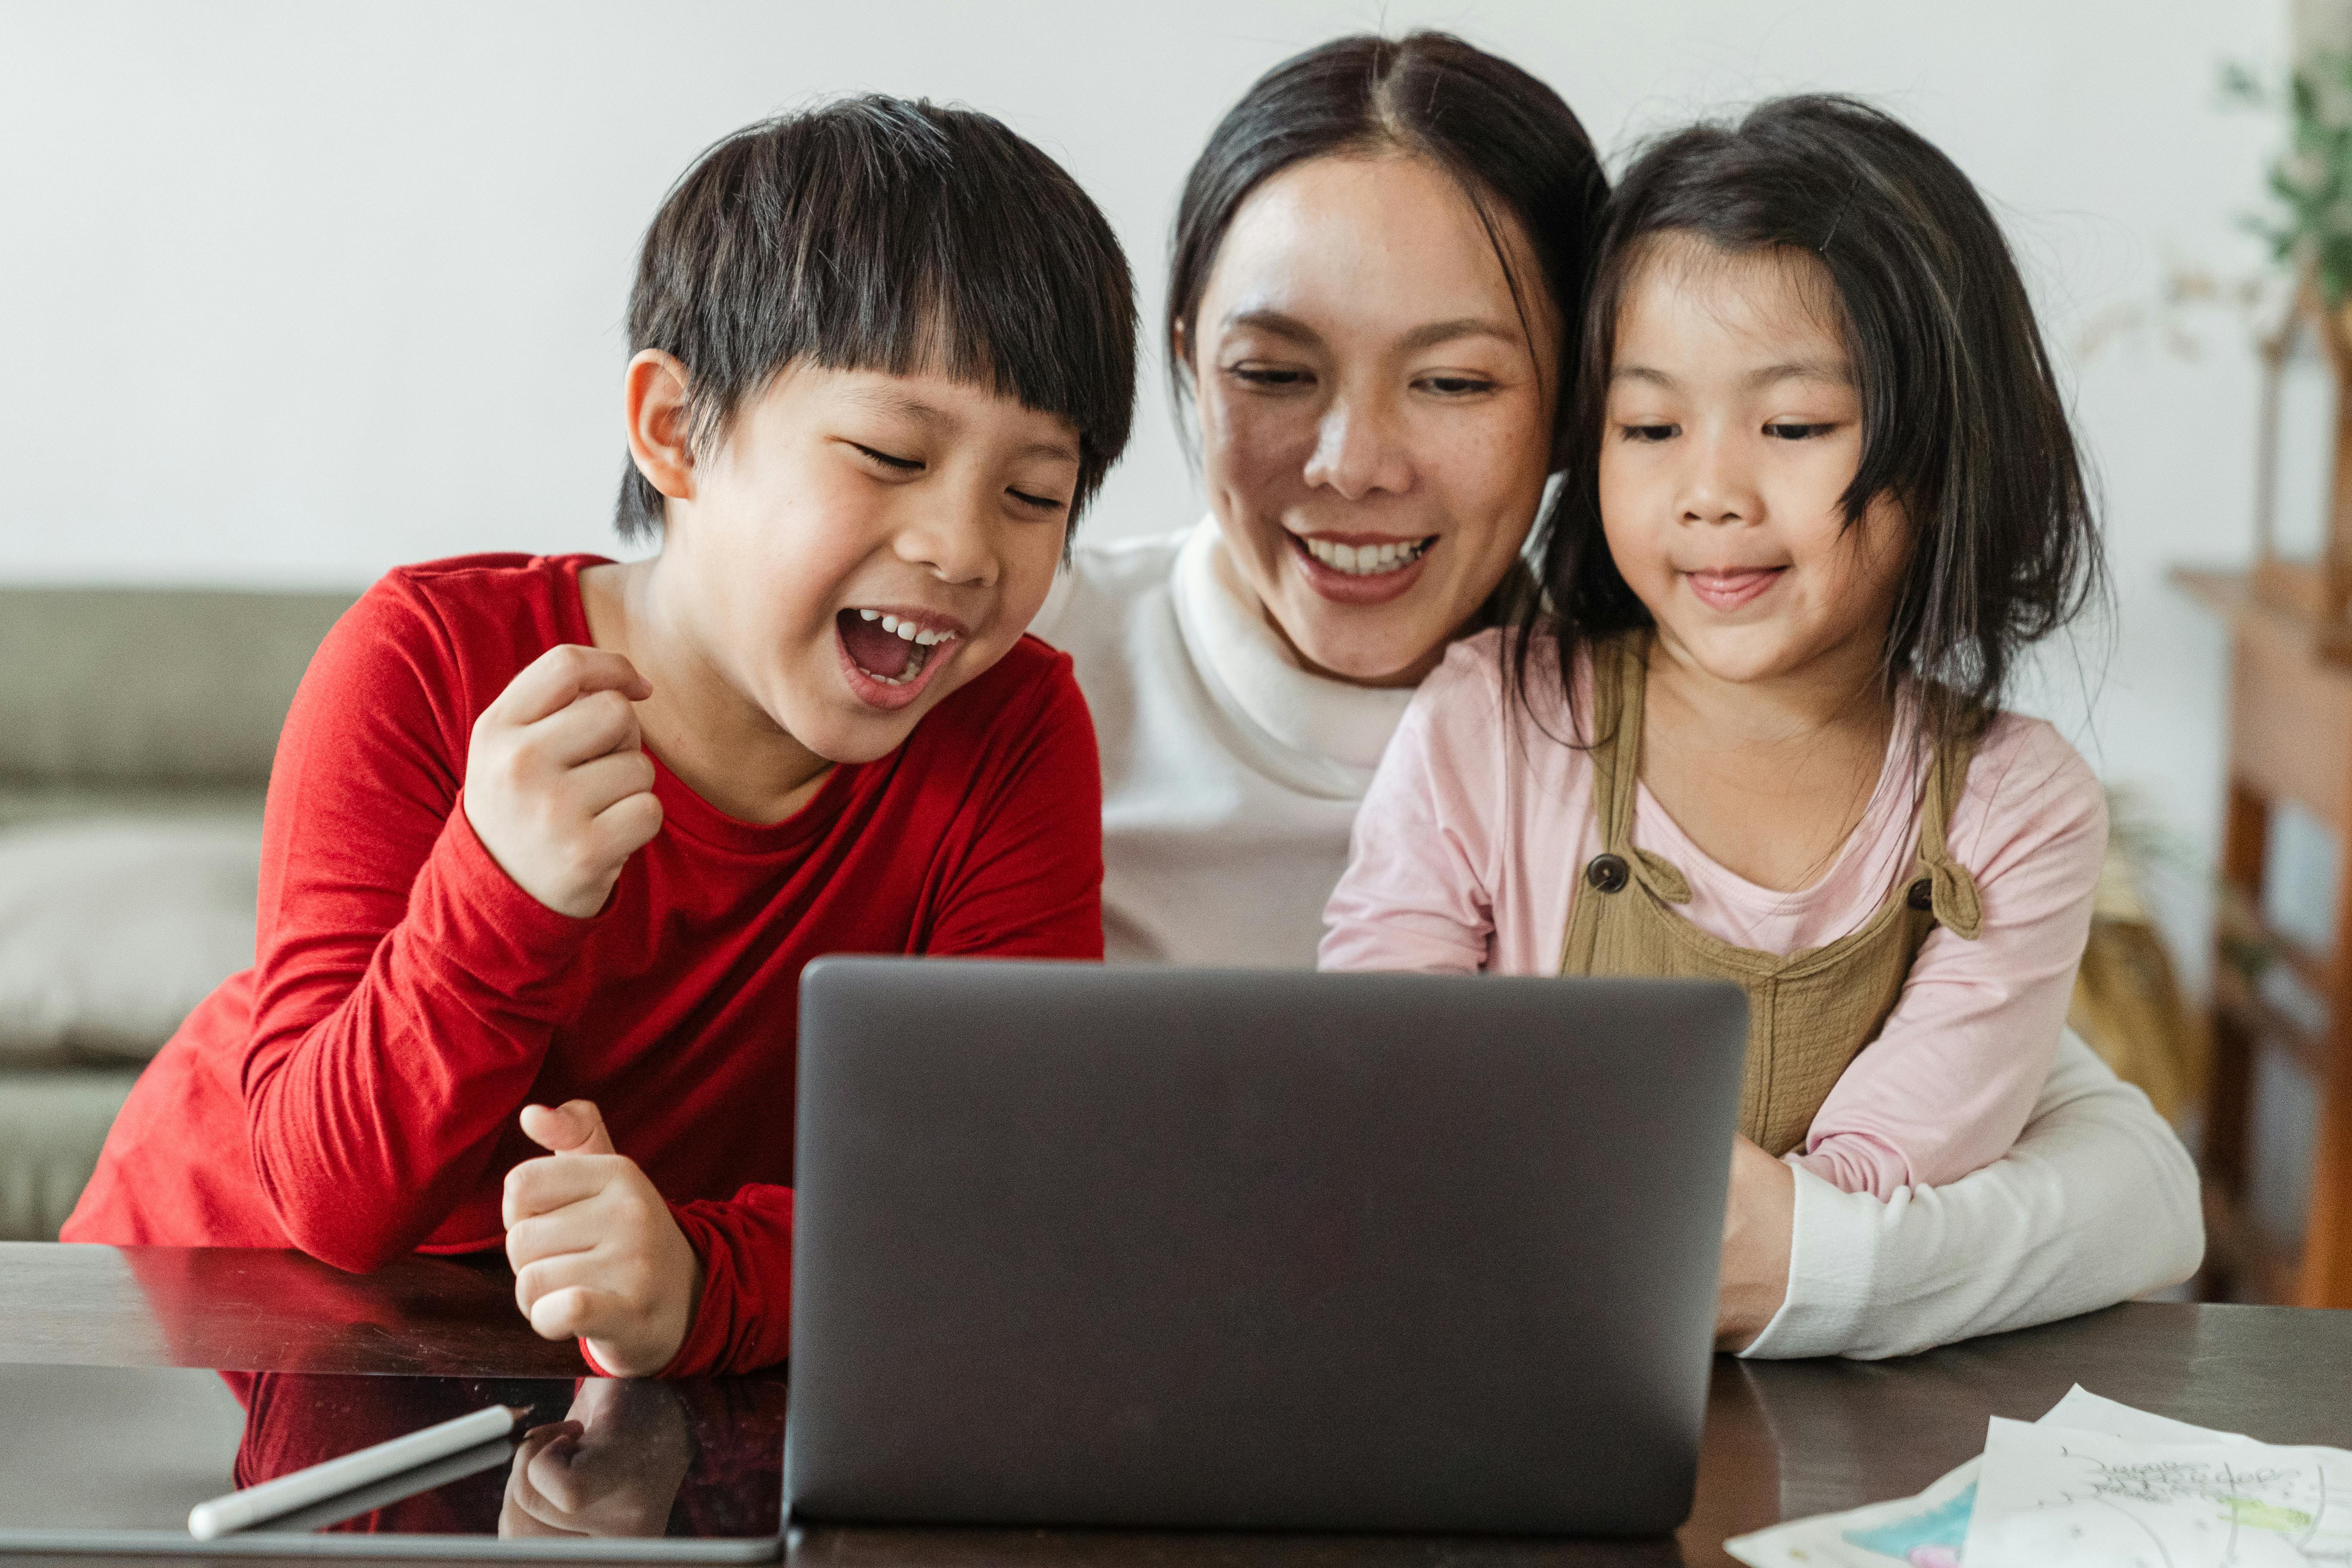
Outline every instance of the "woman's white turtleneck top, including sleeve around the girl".
{"label": "woman's white turtleneck top, including sleeve around the girl", "polygon": [[[1214,520],[1080,545],[1033,630],[1070,654],[1103,748],[1108,957],[1312,969],[1411,691],[1298,668]],[[2157,1291],[2201,1255],[2180,1140],[2067,1034],[1983,1171],[1879,1201],[1799,1168],[1788,1300],[1745,1354],[1910,1354]]]}

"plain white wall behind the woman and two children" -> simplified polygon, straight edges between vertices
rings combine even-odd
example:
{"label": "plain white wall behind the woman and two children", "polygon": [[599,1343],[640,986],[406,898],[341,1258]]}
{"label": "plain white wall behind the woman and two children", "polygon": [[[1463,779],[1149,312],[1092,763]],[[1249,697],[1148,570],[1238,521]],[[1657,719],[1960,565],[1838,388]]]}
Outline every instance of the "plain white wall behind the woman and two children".
{"label": "plain white wall behind the woman and two children", "polygon": [[[2063,353],[2176,268],[2258,266],[2234,219],[2277,129],[2213,82],[2284,56],[2284,0],[19,5],[0,581],[355,585],[607,548],[633,249],[715,136],[856,87],[988,108],[1096,193],[1152,320],[1216,115],[1303,45],[1411,24],[1508,52],[1609,148],[1773,92],[1879,99],[1994,197]],[[2037,701],[2204,853],[2223,639],[2164,567],[2246,552],[2256,383],[2234,320],[2190,324],[2197,360],[2150,327],[2070,353],[2122,614]],[[1164,407],[1152,378],[1089,527],[1195,512]],[[2194,961],[2201,893],[2171,893]]]}

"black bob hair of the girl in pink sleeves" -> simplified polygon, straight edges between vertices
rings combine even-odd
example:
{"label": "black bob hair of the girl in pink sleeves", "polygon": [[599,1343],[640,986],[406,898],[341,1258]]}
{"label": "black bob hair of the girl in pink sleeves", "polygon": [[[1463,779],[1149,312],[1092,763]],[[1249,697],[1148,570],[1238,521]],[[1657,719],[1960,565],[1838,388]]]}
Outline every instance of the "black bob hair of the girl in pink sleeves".
{"label": "black bob hair of the girl in pink sleeves", "polygon": [[1602,226],[1566,482],[1541,534],[1559,679],[1592,639],[1651,623],[1602,536],[1599,454],[1616,322],[1663,237],[1726,254],[1813,256],[1844,315],[1863,404],[1846,527],[1893,498],[1912,529],[1882,679],[1917,682],[1929,738],[1976,733],[2016,656],[2105,590],[2065,402],[2016,259],[1976,186],[1896,118],[1844,96],[1792,96],[1738,125],[1677,132],[1635,160]]}

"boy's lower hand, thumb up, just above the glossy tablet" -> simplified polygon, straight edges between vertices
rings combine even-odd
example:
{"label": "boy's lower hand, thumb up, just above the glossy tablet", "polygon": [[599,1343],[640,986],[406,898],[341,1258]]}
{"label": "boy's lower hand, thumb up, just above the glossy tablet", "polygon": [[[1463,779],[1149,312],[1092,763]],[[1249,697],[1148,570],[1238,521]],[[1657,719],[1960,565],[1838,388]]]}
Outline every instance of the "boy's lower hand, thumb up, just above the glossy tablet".
{"label": "boy's lower hand, thumb up, just above the glossy tablet", "polygon": [[522,1131],[555,1152],[506,1173],[515,1305],[541,1338],[588,1340],[609,1373],[659,1373],[694,1326],[703,1260],[595,1105],[524,1105]]}

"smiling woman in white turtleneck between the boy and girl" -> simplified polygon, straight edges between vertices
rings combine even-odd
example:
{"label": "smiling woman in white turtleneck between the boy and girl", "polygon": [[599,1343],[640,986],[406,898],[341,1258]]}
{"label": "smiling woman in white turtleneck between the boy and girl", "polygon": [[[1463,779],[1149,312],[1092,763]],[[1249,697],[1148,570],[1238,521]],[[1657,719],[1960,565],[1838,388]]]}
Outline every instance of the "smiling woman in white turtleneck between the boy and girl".
{"label": "smiling woman in white turtleneck between the boy and girl", "polygon": [[[1310,49],[1211,134],[1167,315],[1209,520],[1080,548],[1037,621],[1101,738],[1112,959],[1315,961],[1414,684],[1526,590],[1604,190],[1557,94],[1437,33]],[[2067,1037],[2016,1147],[1947,1187],[1879,1201],[1743,1152],[1717,1338],[1905,1354],[2201,1253],[2180,1143]]]}

